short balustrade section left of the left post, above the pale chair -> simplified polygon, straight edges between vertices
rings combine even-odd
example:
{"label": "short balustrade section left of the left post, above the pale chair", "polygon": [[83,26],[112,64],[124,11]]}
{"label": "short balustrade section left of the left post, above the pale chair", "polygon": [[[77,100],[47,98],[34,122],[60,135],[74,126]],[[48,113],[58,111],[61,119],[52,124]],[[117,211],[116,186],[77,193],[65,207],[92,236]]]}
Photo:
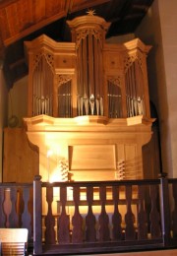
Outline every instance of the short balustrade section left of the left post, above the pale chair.
{"label": "short balustrade section left of the left post, above the pale chair", "polygon": [[26,227],[33,233],[32,183],[0,184],[0,227]]}

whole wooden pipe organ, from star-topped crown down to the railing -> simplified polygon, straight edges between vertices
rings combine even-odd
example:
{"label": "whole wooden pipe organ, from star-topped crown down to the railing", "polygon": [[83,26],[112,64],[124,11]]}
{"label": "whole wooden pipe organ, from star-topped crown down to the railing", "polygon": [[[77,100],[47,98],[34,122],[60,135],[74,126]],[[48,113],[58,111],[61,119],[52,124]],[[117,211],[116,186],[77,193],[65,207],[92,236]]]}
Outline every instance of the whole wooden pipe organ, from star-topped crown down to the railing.
{"label": "whole wooden pipe organ, from star-topped crown down to the railing", "polygon": [[68,21],[72,42],[26,41],[29,141],[43,180],[144,178],[151,138],[147,55],[139,38],[108,44],[97,16]]}

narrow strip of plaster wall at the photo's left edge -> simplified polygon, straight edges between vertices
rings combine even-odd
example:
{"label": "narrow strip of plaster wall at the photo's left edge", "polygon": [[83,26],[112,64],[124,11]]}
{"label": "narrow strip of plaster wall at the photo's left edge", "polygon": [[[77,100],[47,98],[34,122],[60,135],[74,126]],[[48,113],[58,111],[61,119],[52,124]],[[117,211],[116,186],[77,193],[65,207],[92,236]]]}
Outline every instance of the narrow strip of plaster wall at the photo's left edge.
{"label": "narrow strip of plaster wall at the photo's left edge", "polygon": [[3,130],[7,126],[8,91],[3,75],[3,63],[0,62],[0,182],[3,164]]}

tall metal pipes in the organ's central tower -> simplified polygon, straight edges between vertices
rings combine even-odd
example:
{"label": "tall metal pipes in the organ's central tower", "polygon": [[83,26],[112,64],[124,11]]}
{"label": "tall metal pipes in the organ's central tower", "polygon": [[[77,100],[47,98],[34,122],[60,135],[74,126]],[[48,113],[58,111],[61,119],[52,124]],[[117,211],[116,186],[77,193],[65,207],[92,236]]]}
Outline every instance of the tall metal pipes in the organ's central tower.
{"label": "tall metal pipes in the organ's central tower", "polygon": [[100,41],[91,30],[78,46],[78,114],[103,115]]}

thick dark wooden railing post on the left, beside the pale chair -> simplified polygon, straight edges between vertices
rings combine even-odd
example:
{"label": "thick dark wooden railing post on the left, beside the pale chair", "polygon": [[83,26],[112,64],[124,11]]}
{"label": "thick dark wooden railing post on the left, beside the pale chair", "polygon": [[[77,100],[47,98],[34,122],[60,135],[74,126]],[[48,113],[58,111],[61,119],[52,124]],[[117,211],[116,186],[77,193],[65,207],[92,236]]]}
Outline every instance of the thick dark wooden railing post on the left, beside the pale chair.
{"label": "thick dark wooden railing post on the left, beside the pale chair", "polygon": [[33,180],[33,251],[42,252],[42,205],[41,205],[41,176]]}

